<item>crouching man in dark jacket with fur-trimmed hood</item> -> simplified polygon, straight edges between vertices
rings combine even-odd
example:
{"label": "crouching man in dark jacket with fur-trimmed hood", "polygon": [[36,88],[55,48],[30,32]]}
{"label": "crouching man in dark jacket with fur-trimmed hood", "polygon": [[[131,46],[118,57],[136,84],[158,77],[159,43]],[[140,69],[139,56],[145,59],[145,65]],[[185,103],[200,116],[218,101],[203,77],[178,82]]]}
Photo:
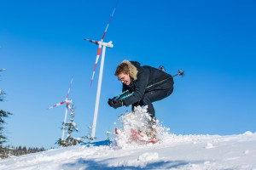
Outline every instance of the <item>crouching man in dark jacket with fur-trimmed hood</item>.
{"label": "crouching man in dark jacket with fur-trimmed hood", "polygon": [[153,102],[165,99],[172,94],[173,78],[171,75],[154,67],[141,66],[137,61],[124,60],[116,69],[115,76],[123,83],[123,92],[128,90],[124,99],[108,99],[108,105],[114,109],[123,105],[148,105],[148,114],[155,120]]}

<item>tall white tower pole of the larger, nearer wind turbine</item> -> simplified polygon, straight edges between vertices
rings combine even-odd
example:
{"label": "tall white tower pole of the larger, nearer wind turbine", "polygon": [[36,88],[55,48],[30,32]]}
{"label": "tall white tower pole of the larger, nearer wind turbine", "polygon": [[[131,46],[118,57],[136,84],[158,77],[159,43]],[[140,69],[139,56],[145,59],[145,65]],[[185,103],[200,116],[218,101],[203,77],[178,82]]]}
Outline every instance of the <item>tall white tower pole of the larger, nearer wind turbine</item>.
{"label": "tall white tower pole of the larger, nearer wind turbine", "polygon": [[100,75],[99,75],[98,88],[97,88],[97,94],[96,94],[96,105],[95,105],[95,109],[94,109],[93,124],[92,124],[92,129],[91,129],[91,139],[92,139],[92,141],[94,140],[95,133],[96,133],[96,123],[97,123],[97,116],[98,116],[99,103],[100,103],[100,95],[101,95],[101,89],[102,89],[102,75],[103,75],[105,52],[106,52],[106,46],[103,45],[103,47],[102,47],[101,68],[100,68]]}

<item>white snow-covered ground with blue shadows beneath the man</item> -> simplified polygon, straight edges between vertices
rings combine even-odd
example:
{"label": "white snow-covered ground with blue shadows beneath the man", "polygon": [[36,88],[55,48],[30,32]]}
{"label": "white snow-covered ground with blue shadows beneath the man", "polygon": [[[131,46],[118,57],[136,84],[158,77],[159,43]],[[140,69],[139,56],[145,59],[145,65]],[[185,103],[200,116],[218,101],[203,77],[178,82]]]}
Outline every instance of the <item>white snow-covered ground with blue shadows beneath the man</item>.
{"label": "white snow-covered ground with blue shadows beneath the man", "polygon": [[[140,108],[139,111],[144,110]],[[131,124],[125,122],[124,116],[121,119],[124,123],[120,131],[125,133],[125,126]],[[256,133],[176,135],[167,133],[165,127],[158,127],[161,134],[157,144],[137,144],[127,142],[127,137],[116,136],[111,142],[102,141],[4,159],[0,161],[0,169],[256,170]]]}

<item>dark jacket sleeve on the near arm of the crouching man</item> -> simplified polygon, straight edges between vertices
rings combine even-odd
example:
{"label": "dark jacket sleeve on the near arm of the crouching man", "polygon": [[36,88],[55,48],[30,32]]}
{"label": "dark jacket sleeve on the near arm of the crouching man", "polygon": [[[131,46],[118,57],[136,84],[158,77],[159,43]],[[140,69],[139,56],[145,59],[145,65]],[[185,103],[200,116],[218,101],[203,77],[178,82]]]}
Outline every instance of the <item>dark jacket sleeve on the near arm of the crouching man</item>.
{"label": "dark jacket sleeve on the near arm of the crouching man", "polygon": [[141,68],[141,70],[137,74],[137,85],[134,93],[131,96],[125,98],[123,101],[125,106],[132,105],[143,99],[143,95],[148,84],[148,78],[149,72]]}

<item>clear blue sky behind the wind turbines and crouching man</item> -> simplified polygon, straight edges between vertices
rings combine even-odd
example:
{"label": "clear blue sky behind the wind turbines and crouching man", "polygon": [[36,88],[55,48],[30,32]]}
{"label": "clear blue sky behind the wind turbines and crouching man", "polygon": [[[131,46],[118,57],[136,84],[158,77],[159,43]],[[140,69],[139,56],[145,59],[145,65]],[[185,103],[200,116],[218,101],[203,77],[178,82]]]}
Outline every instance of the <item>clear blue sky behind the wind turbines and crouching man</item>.
{"label": "clear blue sky behind the wind turbines and crouching man", "polygon": [[[111,1],[2,1],[0,5],[0,89],[6,134],[13,145],[56,146],[65,106],[46,111],[65,99],[77,109],[80,137],[92,124],[96,85],[90,88],[97,46],[113,12]],[[117,117],[131,107],[107,104],[121,91],[113,76],[124,59],[158,67],[185,77],[175,90],[154,104],[156,116],[177,134],[256,132],[256,2],[123,1],[119,0],[105,41],[102,95],[96,137],[104,139]],[[99,61],[100,63],[100,61]]]}

